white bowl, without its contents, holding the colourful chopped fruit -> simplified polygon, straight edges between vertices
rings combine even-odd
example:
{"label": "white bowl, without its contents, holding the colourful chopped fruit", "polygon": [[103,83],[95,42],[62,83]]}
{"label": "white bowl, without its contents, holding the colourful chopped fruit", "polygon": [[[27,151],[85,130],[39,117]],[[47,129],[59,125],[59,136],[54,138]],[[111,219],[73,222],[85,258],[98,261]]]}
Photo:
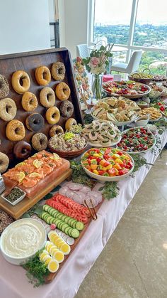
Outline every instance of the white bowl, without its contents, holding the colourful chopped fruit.
{"label": "white bowl, without its contents, holding the colourful chopped fruit", "polygon": [[[120,150],[120,151],[122,151],[122,150]],[[81,162],[81,166],[83,167],[84,171],[86,172],[86,174],[88,176],[90,176],[93,179],[96,179],[98,181],[110,181],[110,182],[112,182],[112,181],[124,180],[126,177],[128,177],[130,174],[132,174],[132,171],[134,170],[134,160],[132,159],[132,156],[130,156],[129,154],[127,154],[127,152],[125,152],[125,151],[122,151],[122,152],[123,152],[123,154],[126,154],[127,156],[129,156],[129,159],[133,163],[132,169],[130,169],[130,171],[127,174],[125,174],[125,175],[115,176],[115,177],[100,176],[100,175],[97,175],[97,174],[92,173],[91,171],[88,171],[88,169],[86,169],[84,167],[84,165],[82,164],[82,162]],[[84,156],[84,154],[82,156]]]}

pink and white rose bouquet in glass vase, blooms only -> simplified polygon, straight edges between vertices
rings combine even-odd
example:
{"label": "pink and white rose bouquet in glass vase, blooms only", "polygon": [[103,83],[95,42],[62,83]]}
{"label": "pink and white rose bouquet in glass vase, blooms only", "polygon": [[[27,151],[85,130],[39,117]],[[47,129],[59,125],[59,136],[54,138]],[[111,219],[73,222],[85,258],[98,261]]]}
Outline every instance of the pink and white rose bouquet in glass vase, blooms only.
{"label": "pink and white rose bouquet in glass vase, blooms only", "polygon": [[114,44],[108,44],[107,46],[100,46],[97,48],[98,43],[90,53],[90,57],[83,59],[83,63],[86,66],[88,73],[93,75],[100,75],[105,73],[106,68],[109,65],[109,58],[113,57],[111,50]]}

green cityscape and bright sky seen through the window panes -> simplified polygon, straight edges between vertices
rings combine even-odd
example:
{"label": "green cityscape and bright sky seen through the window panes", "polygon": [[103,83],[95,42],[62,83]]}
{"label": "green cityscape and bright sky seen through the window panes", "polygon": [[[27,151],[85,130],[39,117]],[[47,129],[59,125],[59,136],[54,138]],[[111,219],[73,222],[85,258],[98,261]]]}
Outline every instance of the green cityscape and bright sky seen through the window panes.
{"label": "green cityscape and bright sky seen through the window panes", "polygon": [[[133,0],[95,0],[93,41],[105,36],[131,50],[143,49],[139,70],[150,68],[151,73],[166,74],[167,67],[167,1],[139,0],[134,32],[130,28]],[[129,44],[129,35],[132,42]],[[151,48],[151,49],[150,49]],[[156,51],[152,49],[155,48]],[[115,52],[113,62],[125,62],[127,52]]]}

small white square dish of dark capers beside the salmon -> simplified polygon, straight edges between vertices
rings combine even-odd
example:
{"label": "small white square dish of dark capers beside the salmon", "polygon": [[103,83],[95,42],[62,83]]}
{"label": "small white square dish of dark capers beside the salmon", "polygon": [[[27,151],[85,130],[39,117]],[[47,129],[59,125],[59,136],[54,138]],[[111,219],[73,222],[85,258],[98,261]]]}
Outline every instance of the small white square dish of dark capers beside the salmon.
{"label": "small white square dish of dark capers beside the salmon", "polygon": [[5,193],[1,194],[1,197],[4,198],[5,201],[15,206],[25,197],[26,193],[22,191],[20,188],[15,187],[11,190],[7,195]]}

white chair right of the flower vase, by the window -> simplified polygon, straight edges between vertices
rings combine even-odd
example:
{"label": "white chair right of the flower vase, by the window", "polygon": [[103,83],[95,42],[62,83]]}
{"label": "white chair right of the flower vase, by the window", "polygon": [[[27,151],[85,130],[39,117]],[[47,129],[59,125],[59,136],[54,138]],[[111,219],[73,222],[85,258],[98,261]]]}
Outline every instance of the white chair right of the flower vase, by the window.
{"label": "white chair right of the flower vase, by the window", "polygon": [[142,50],[134,50],[132,57],[129,60],[129,63],[115,63],[111,67],[111,71],[117,71],[120,73],[133,73],[139,68],[139,63],[142,58]]}

